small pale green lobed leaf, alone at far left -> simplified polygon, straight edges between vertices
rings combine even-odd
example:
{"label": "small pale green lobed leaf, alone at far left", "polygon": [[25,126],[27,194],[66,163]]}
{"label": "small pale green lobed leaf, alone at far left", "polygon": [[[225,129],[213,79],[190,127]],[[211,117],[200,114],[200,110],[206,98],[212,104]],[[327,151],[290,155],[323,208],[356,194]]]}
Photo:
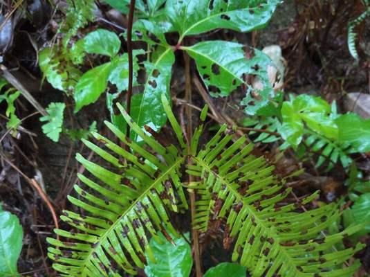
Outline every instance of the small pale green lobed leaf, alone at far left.
{"label": "small pale green lobed leaf, alone at far left", "polygon": [[63,111],[66,105],[63,102],[52,102],[46,108],[47,116],[40,118],[41,122],[47,121],[42,125],[42,132],[52,141],[59,141],[59,134],[62,132]]}

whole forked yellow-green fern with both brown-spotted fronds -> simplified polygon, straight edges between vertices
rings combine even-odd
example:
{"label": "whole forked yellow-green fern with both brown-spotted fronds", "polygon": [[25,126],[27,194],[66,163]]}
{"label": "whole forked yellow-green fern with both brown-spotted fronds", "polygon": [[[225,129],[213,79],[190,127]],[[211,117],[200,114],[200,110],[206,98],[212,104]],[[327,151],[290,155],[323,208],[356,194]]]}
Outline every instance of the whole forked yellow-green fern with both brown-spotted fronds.
{"label": "whole forked yellow-green fern with both brown-spotted fronds", "polygon": [[[79,197],[70,195],[68,199],[87,214],[64,211],[61,219],[81,233],[56,229],[55,233],[68,241],[48,238],[54,246],[49,248],[48,256],[55,260],[53,267],[57,271],[66,276],[121,276],[120,270],[135,274],[136,267],[147,263],[145,253],[148,260],[156,260],[149,236],[158,242],[163,241],[160,231],[167,233],[169,240],[169,233],[178,237],[169,211],[181,213],[188,208],[183,189],[187,186],[201,195],[196,202],[194,228],[206,231],[211,220],[223,218],[227,226],[225,239],[236,240],[232,260],[248,267],[252,276],[353,274],[359,263],[349,267],[342,267],[342,263],[362,244],[339,251],[333,246],[361,226],[351,225],[339,233],[322,236],[321,232],[340,217],[335,204],[306,213],[299,211],[315,199],[316,193],[299,203],[284,204],[282,200],[291,189],[272,174],[273,167],[263,157],[250,153],[253,145],[246,145],[245,136],[232,141],[232,130],[223,125],[202,147],[201,125],[187,146],[167,98],[162,96],[162,101],[178,145],[162,145],[145,134],[120,105],[122,116],[144,144],[138,145],[111,123],[106,124],[135,154],[100,134],[93,136],[113,155],[84,141],[112,169],[77,155],[91,177],[79,175],[84,184],[75,186]],[[206,114],[207,107],[201,113],[202,122]],[[122,157],[127,159],[127,166],[120,162]],[[183,167],[194,182],[183,184]]]}

